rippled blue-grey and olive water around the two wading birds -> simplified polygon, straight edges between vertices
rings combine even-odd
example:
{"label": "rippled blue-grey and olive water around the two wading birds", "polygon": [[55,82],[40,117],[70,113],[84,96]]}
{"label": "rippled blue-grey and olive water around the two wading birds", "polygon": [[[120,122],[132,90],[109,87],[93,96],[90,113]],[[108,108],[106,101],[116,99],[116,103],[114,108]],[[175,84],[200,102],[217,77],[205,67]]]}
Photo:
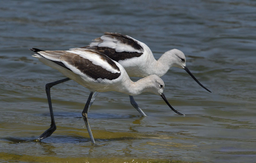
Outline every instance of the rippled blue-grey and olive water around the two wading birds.
{"label": "rippled blue-grey and olive water around the two wading birds", "polygon": [[[255,162],[255,1],[1,1],[0,162]],[[45,84],[64,78],[31,57],[28,48],[68,50],[103,32],[146,43],[159,58],[183,51],[187,67],[162,77],[170,104],[99,93],[88,117],[89,91],[68,81],[51,89],[57,130],[34,140],[50,125]],[[138,80],[139,78],[132,78]]]}

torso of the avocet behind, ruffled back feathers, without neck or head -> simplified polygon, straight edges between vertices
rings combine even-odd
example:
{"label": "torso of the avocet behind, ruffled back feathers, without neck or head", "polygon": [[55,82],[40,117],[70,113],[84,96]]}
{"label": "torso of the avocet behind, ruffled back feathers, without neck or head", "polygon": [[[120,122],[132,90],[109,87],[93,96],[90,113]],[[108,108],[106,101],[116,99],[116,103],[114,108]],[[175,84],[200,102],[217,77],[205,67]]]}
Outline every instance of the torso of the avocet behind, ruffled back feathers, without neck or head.
{"label": "torso of the avocet behind, ruffled back feathers, without neck or head", "polygon": [[83,48],[97,50],[120,63],[129,76],[145,77],[156,63],[149,47],[127,35],[105,32]]}

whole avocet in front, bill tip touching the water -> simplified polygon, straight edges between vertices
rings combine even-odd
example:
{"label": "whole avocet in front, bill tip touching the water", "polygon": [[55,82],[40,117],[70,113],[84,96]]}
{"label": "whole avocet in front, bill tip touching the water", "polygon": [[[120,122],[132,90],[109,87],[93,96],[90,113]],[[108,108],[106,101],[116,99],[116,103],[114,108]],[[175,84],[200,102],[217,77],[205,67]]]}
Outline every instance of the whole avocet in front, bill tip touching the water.
{"label": "whole avocet in front, bill tip touching the water", "polygon": [[161,96],[173,111],[179,115],[183,115],[172,108],[167,101],[163,94],[164,81],[157,75],[150,75],[133,82],[130,80],[125,69],[119,63],[113,61],[100,52],[89,49],[84,50],[77,48],[70,51],[43,51],[32,48],[30,50],[36,52],[32,55],[33,57],[38,58],[39,61],[43,62],[47,66],[55,68],[63,75],[67,76],[65,79],[46,84],[46,94],[51,115],[51,126],[38,138],[38,140],[47,138],[56,130],[51,105],[50,88],[71,79],[90,90],[90,95],[85,104],[84,110],[82,111],[82,117],[93,144],[95,141],[88,122],[87,112],[90,100],[95,91],[117,91],[128,95],[139,95],[143,92],[154,93]]}

